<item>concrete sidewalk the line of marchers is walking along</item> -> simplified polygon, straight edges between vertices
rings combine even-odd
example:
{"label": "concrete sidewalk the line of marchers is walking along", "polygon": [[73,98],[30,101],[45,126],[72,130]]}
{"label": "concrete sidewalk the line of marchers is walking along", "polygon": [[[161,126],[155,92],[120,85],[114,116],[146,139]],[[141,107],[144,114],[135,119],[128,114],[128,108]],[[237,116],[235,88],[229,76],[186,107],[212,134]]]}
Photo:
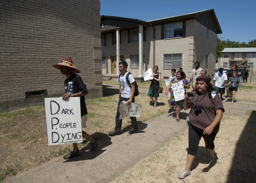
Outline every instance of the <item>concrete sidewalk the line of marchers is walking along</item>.
{"label": "concrete sidewalk the line of marchers is walking along", "polygon": [[[119,88],[119,86],[115,85],[104,87]],[[139,89],[139,92],[147,93],[148,89]],[[160,94],[160,96],[165,96],[165,94]],[[248,109],[256,110],[256,103],[254,102],[237,101],[231,104],[231,102],[226,102],[225,100],[223,104],[225,113],[238,114],[237,112],[239,112],[239,114],[245,114]],[[188,113],[189,110],[181,111],[180,122],[170,117],[172,113],[165,113],[140,123],[138,125],[140,131],[138,133],[129,135],[128,131],[122,131],[121,135],[101,139],[96,152],[90,152],[90,146],[87,145],[81,149],[80,157],[70,160],[58,157],[5,179],[4,182],[112,181],[119,174],[187,128],[187,123],[184,119]]]}

